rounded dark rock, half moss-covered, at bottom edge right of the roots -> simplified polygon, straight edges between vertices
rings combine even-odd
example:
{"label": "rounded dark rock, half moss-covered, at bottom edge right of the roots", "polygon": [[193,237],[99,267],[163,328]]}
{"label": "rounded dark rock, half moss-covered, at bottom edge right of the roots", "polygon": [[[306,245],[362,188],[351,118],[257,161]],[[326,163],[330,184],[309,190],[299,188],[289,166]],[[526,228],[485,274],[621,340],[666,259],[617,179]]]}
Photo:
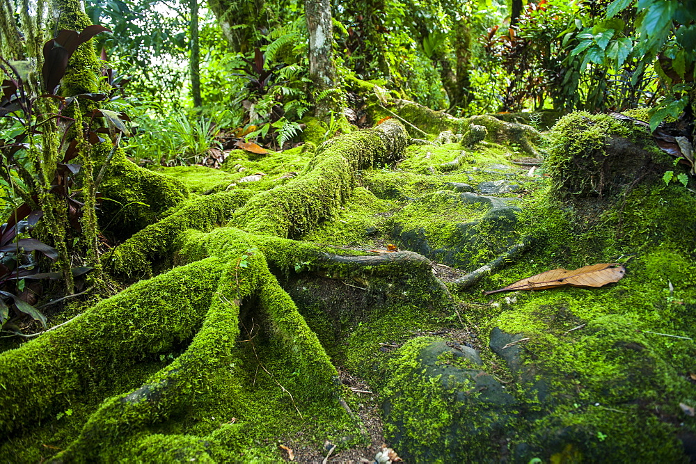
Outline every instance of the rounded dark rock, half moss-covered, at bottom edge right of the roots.
{"label": "rounded dark rock, half moss-covered, at bottom edge right of the roots", "polygon": [[386,376],[386,438],[406,462],[481,460],[514,422],[516,399],[442,339],[407,342],[386,363]]}

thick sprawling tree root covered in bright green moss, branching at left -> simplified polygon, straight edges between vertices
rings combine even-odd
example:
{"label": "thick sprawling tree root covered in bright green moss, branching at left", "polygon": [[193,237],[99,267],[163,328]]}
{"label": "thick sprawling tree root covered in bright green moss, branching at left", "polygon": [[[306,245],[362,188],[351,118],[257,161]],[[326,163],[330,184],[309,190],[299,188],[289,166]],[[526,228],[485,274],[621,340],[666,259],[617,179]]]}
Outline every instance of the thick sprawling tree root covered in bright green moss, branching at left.
{"label": "thick sprawling tree root covered in bright green moss, branching at left", "polygon": [[[210,411],[241,408],[235,399],[242,390],[259,388],[248,372],[257,363],[270,376],[264,395],[284,398],[288,414],[309,419],[313,408],[328,404],[331,414],[355,427],[336,401],[342,391],[335,367],[270,269],[313,262],[322,275],[335,278],[388,274],[403,285],[433,285],[432,264],[413,253],[365,261],[285,238],[300,237],[337,214],[359,170],[396,159],[405,145],[406,132],[393,121],[334,138],[290,183],[251,198],[225,192],[190,200],[118,246],[104,257],[116,272],[152,273],[153,265],[171,255],[183,265],[2,353],[1,433],[22,440],[36,424],[60,420],[62,411],[80,403],[86,413],[81,432],[55,456],[58,461],[230,459],[225,453],[232,451],[220,449],[232,446],[222,438],[232,433],[228,425],[198,437],[165,430],[191,411],[218,415]],[[226,221],[230,227],[201,232]],[[440,298],[446,294],[433,288],[430,304],[438,292]],[[158,367],[152,364],[158,357],[173,360]],[[256,361],[247,367],[250,357]],[[287,375],[274,377],[271,371],[280,366]],[[232,450],[239,458],[244,447]]]}

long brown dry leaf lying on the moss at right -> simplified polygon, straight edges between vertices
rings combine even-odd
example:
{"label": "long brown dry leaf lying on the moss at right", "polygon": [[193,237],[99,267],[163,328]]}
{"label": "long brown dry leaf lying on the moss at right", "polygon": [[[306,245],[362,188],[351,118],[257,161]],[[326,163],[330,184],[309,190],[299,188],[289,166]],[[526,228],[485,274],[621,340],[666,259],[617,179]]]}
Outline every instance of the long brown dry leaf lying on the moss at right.
{"label": "long brown dry leaf lying on the moss at right", "polygon": [[514,282],[502,289],[484,291],[484,295],[498,293],[498,291],[515,290],[545,290],[563,285],[572,287],[602,287],[612,282],[619,282],[624,277],[626,268],[618,263],[593,264],[584,266],[574,271],[567,269],[553,269],[542,272],[522,280]]}

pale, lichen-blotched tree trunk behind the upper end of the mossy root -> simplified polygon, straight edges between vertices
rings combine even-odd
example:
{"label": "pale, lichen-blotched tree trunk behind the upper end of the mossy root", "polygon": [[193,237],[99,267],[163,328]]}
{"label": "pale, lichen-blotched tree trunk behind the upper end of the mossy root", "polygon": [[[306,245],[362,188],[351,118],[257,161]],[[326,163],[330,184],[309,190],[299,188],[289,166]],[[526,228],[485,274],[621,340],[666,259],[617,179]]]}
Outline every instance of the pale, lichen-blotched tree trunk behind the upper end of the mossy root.
{"label": "pale, lichen-blotched tree trunk behind the upper end of the mossy root", "polygon": [[338,109],[335,95],[327,93],[335,82],[333,67],[333,26],[330,0],[305,0],[309,32],[309,77],[315,84],[315,116],[326,119]]}

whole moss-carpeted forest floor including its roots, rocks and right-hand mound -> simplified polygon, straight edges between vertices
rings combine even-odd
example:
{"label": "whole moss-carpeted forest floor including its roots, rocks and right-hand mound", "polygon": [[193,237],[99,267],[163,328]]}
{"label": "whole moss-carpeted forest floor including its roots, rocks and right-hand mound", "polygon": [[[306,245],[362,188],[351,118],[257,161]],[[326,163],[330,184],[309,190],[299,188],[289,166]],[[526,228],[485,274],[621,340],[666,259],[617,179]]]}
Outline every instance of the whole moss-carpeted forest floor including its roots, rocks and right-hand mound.
{"label": "whole moss-carpeted forest floor including its roots, rocks and right-hand mound", "polygon": [[[504,134],[404,150],[393,120],[311,157],[235,153],[225,175],[301,168],[180,202],[102,257],[154,277],[1,353],[1,458],[321,461],[329,440],[347,461],[385,440],[409,462],[688,461],[693,193],[630,122],[520,130],[544,166]],[[610,262],[605,287],[481,293]]]}

